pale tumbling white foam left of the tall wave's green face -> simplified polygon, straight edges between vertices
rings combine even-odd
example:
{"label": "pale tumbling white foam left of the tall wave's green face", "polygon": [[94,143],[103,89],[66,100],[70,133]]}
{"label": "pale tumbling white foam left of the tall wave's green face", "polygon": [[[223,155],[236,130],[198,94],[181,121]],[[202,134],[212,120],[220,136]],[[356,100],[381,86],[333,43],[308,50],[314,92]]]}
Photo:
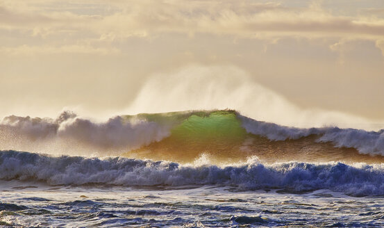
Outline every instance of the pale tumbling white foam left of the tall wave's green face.
{"label": "pale tumbling white foam left of the tall wave's green face", "polygon": [[12,115],[0,124],[2,148],[55,154],[115,154],[167,136],[169,127],[156,122],[120,116],[94,122],[71,112],[61,113],[55,120]]}

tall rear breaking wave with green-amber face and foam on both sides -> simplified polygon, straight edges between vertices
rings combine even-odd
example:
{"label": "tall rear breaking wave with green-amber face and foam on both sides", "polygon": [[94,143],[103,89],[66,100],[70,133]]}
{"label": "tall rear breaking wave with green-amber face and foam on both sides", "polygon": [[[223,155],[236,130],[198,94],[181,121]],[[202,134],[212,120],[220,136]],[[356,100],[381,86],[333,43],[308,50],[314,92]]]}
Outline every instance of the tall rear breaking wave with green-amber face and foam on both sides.
{"label": "tall rear breaking wave with green-amber face and foam on both sides", "polygon": [[262,161],[381,162],[384,130],[284,127],[231,110],[121,115],[106,122],[64,112],[54,120],[5,117],[0,149],[182,163],[201,154],[221,161],[259,156]]}

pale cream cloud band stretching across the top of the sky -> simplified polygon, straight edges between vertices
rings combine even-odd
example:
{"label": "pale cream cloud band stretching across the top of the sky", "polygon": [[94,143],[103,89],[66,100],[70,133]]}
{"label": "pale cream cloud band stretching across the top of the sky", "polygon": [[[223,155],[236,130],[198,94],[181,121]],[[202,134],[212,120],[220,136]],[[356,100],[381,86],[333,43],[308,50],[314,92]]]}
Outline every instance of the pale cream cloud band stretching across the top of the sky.
{"label": "pale cream cloud band stretching across the top of the sky", "polygon": [[318,1],[295,7],[247,0],[5,0],[0,3],[0,29],[40,36],[44,44],[50,42],[51,46],[69,42],[65,45],[72,47],[78,45],[78,40],[98,40],[105,46],[96,51],[100,53],[108,49],[110,42],[153,38],[163,33],[182,33],[190,38],[208,33],[265,40],[348,38],[376,42],[384,37],[384,19],[374,13],[337,15],[322,8]]}

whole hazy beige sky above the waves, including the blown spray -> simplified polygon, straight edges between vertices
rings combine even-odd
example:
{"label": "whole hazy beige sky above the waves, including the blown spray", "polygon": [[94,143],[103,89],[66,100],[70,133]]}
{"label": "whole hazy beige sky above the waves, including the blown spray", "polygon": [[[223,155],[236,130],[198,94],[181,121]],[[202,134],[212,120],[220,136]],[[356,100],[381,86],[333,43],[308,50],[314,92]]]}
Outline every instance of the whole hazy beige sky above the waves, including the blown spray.
{"label": "whole hazy beige sky above the waves, including the blown spray", "polygon": [[0,0],[0,69],[0,117],[384,123],[384,1]]}

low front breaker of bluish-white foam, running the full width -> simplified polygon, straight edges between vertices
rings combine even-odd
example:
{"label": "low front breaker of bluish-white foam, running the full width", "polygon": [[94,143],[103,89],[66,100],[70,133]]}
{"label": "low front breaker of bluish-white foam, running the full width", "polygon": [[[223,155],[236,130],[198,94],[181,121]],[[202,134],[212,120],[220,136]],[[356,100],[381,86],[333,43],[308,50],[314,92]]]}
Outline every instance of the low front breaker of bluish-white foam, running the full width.
{"label": "low front breaker of bluish-white foam, running the full width", "polygon": [[290,192],[329,189],[353,196],[384,195],[384,165],[274,163],[253,160],[236,166],[190,166],[122,157],[52,157],[0,152],[0,179],[49,185],[117,186],[219,185],[237,190],[278,188]]}

